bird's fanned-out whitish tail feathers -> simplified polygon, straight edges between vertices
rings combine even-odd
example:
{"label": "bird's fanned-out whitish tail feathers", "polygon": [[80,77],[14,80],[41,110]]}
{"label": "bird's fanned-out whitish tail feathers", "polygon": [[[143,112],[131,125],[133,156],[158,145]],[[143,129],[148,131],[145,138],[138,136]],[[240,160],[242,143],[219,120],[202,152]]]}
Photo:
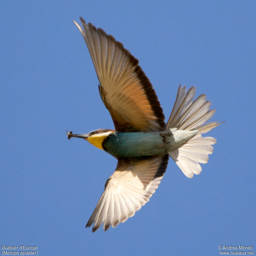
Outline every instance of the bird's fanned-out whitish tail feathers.
{"label": "bird's fanned-out whitish tail feathers", "polygon": [[174,132],[198,131],[185,144],[168,152],[188,178],[202,171],[199,163],[208,162],[208,155],[213,151],[211,145],[216,143],[216,139],[202,137],[201,134],[211,131],[220,124],[218,122],[205,124],[213,116],[215,109],[209,110],[211,101],[205,101],[205,94],[193,101],[195,92],[195,87],[191,87],[187,92],[186,86],[182,88],[179,86],[171,116],[166,124],[166,130],[171,129]]}

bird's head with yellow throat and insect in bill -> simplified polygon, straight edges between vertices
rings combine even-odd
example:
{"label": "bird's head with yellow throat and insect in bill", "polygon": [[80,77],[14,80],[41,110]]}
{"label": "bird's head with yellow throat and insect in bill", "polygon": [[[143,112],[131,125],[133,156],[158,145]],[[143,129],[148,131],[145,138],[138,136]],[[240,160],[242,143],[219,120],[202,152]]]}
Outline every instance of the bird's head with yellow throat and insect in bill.
{"label": "bird's head with yellow throat and insect in bill", "polygon": [[[112,133],[114,130],[107,130],[107,129],[98,129],[86,134],[73,134],[72,132],[68,132],[67,136],[68,139],[71,137],[81,138],[90,142],[93,146],[103,149],[102,142]],[[103,149],[104,150],[104,149]]]}

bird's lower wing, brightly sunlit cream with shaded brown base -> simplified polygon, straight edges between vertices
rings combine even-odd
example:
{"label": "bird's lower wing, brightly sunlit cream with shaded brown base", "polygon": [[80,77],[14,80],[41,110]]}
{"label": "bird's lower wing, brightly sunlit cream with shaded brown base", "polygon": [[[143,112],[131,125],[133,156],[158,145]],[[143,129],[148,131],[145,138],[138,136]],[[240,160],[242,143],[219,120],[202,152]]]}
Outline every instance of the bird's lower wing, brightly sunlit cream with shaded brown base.
{"label": "bird's lower wing, brightly sunlit cream with shaded brown base", "polygon": [[118,159],[116,171],[105,184],[105,190],[86,227],[106,231],[132,217],[155,193],[168,164],[168,155],[147,158]]}

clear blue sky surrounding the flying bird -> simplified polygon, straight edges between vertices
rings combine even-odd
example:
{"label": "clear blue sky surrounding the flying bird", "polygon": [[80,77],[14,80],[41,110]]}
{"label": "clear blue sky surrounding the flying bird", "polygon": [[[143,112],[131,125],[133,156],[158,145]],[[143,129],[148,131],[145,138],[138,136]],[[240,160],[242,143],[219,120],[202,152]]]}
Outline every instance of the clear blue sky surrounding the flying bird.
{"label": "clear blue sky surrounding the flying bird", "polygon": [[[235,0],[1,1],[1,246],[38,255],[256,249],[255,13],[256,1]],[[170,159],[150,201],[107,232],[85,224],[116,159],[66,136],[114,128],[79,16],[139,59],[166,119],[186,84],[212,101],[212,121],[225,121],[208,133],[217,144],[200,175],[188,179]]]}

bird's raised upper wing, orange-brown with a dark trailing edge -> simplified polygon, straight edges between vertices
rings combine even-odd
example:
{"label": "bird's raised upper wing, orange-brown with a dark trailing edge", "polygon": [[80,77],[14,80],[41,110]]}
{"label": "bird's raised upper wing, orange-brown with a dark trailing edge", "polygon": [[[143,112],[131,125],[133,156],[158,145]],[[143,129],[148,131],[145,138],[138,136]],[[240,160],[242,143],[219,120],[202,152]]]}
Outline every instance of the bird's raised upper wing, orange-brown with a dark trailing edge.
{"label": "bird's raised upper wing, orange-brown with a dark trailing edge", "polygon": [[123,44],[91,23],[77,28],[84,37],[100,81],[100,97],[118,132],[164,130],[164,114],[156,92]]}

